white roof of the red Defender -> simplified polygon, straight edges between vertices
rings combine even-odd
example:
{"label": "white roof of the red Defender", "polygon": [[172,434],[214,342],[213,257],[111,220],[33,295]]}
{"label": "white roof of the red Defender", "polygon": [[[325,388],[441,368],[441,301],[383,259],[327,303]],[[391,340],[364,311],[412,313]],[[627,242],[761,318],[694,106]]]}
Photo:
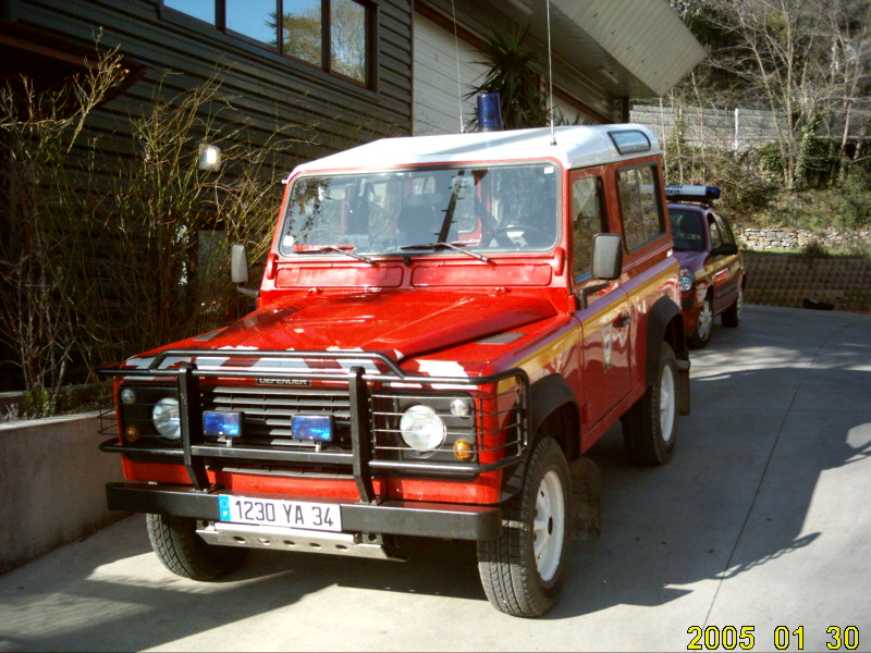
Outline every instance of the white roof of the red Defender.
{"label": "white roof of the red Defender", "polygon": [[[621,134],[629,140],[626,147],[622,148],[625,153],[617,150],[614,140],[619,139]],[[564,168],[571,169],[646,157],[661,151],[659,140],[653,133],[637,124],[564,126],[556,127],[555,135],[556,145],[551,145],[550,127],[382,138],[303,163],[293,174],[537,159],[555,159]],[[645,138],[649,143],[649,148],[645,147]],[[636,144],[640,140],[640,147],[643,149],[633,149],[633,140]]]}

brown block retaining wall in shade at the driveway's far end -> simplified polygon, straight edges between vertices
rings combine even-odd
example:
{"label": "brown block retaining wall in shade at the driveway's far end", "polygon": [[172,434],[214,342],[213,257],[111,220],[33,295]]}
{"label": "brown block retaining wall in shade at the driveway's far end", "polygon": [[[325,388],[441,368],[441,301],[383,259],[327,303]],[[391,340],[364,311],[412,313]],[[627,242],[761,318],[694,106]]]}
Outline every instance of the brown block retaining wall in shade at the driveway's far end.
{"label": "brown block retaining wall in shade at the driveway's far end", "polygon": [[800,308],[808,300],[871,311],[871,259],[746,251],[744,261],[749,304]]}

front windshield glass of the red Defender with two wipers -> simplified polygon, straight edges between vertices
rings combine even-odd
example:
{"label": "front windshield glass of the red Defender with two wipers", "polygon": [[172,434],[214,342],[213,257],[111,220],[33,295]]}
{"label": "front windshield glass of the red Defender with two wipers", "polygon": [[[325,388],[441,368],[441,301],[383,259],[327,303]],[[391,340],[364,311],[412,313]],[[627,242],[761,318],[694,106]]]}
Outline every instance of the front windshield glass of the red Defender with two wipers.
{"label": "front windshield glass of the red Defender with two wipers", "polygon": [[549,163],[306,175],[293,183],[279,251],[543,251],[560,236],[559,197]]}

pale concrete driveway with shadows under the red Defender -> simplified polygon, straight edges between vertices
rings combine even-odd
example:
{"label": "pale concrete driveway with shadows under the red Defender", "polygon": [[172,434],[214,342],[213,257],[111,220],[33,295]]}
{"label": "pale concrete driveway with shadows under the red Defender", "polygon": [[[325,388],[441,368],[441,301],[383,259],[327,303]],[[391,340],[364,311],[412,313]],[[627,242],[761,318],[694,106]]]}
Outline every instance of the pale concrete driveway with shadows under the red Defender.
{"label": "pale concrete driveway with shadows under the red Defender", "polygon": [[490,608],[467,544],[404,565],[254,552],[204,584],[134,517],[0,577],[0,650],[686,651],[692,627],[735,627],[740,650],[746,626],[757,651],[826,651],[830,627],[868,651],[871,316],[749,307],[692,365],[667,466],[628,465],[617,429],[591,451],[602,538],[544,618]]}

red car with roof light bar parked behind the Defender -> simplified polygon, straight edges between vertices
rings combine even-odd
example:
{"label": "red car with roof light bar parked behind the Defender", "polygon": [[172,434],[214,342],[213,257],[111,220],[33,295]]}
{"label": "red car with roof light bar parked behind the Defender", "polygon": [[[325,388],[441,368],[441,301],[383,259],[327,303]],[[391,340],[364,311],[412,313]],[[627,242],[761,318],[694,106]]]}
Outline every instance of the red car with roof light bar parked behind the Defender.
{"label": "red car with roof light bar parked behind the Defender", "polygon": [[716,186],[666,186],[675,257],[680,261],[682,308],[687,342],[701,348],[720,316],[740,324],[746,270],[728,222],[713,209]]}

